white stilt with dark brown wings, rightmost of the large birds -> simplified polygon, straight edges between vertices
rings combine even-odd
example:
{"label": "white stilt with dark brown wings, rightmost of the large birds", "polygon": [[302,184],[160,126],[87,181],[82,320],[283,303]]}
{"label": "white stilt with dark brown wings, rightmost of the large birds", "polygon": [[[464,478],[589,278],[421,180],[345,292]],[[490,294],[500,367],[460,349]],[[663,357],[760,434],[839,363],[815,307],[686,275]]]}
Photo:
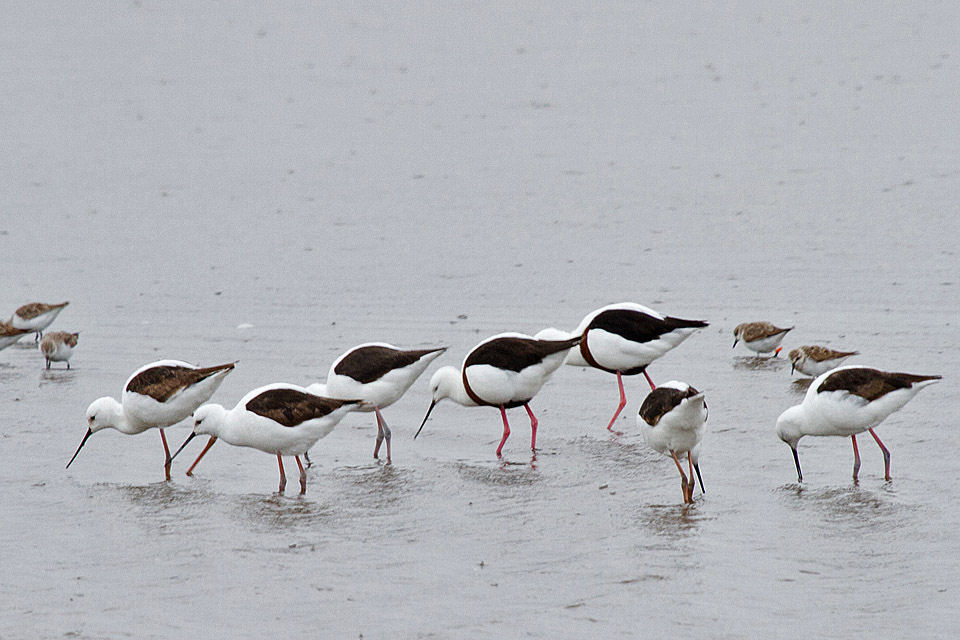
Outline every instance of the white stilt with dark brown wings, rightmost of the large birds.
{"label": "white stilt with dark brown wings, rightmost of the large birds", "polygon": [[803,402],[777,418],[777,435],[790,445],[797,465],[797,481],[803,482],[797,441],[803,436],[850,436],[853,442],[853,481],[860,471],[857,434],[869,431],[883,451],[884,478],[890,480],[890,452],[874,427],[899,410],[920,389],[940,376],[888,373],[868,367],[846,366],[821,374],[810,384]]}

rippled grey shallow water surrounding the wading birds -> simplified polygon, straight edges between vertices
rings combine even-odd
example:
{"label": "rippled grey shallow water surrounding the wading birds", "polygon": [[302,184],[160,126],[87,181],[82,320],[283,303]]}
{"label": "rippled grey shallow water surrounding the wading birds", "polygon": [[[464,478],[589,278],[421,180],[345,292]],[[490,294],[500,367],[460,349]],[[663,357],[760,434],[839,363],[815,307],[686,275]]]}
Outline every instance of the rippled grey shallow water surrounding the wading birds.
{"label": "rippled grey shallow water surrounding the wading birds", "polygon": [[[0,352],[0,637],[956,637],[960,90],[952,3],[6,3],[0,305],[70,300],[73,369]],[[629,300],[708,329],[650,367],[706,391],[684,506],[627,379],[564,367],[499,462],[427,379],[502,331]],[[944,381],[801,443],[786,348]],[[143,363],[239,359],[215,400],[370,340],[449,347],[309,490],[218,444],[162,481],[84,409]],[[168,430],[178,445],[187,425]],[[199,450],[191,448],[185,457]],[[291,461],[292,463],[292,461]],[[295,465],[288,464],[288,473]]]}

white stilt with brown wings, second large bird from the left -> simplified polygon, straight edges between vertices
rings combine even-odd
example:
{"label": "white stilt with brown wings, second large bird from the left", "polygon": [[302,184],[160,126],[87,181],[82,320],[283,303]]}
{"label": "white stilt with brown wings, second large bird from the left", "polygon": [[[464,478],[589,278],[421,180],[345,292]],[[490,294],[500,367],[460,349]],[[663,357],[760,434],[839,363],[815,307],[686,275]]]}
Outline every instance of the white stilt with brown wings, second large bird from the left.
{"label": "white stilt with brown wings, second large bird from the left", "polygon": [[294,456],[300,468],[300,493],[304,494],[307,472],[300,456],[333,431],[343,416],[355,410],[360,402],[323,398],[292,384],[268,384],[243,396],[232,409],[219,404],[206,404],[197,409],[193,414],[193,433],[173,457],[177,457],[198,435],[209,435],[210,440],[190,467],[191,471],[218,439],[238,447],[259,449],[277,456],[280,467],[278,492],[283,493],[287,477],[283,472],[282,456]]}

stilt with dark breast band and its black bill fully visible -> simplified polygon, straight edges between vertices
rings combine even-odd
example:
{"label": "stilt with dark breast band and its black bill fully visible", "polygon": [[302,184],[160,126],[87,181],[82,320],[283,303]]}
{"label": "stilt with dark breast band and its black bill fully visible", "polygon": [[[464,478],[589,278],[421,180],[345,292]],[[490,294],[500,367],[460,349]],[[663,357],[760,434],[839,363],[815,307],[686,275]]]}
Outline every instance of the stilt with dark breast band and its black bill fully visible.
{"label": "stilt with dark breast band and its black bill fully visible", "polygon": [[556,371],[580,336],[564,340],[538,340],[522,333],[501,333],[475,346],[460,369],[440,367],[430,379],[433,400],[416,438],[427,423],[430,412],[444,398],[465,407],[489,406],[500,409],[503,437],[497,447],[501,457],[503,443],[510,436],[507,409],[523,407],[530,416],[530,449],[537,449],[537,418],[529,402]]}

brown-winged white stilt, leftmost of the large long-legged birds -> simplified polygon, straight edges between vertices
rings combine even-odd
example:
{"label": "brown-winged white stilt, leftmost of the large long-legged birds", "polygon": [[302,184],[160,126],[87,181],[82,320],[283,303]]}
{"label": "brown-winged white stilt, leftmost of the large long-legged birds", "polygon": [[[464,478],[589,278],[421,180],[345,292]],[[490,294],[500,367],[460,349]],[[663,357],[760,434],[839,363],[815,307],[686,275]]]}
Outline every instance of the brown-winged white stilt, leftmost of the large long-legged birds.
{"label": "brown-winged white stilt, leftmost of the large long-legged birds", "polygon": [[158,360],[140,367],[127,379],[120,402],[106,396],[87,407],[87,433],[67,467],[87,439],[101,429],[135,435],[158,428],[163,442],[164,472],[169,480],[171,457],[164,428],[180,422],[209,400],[235,365],[228,362],[201,368],[179,360]]}

